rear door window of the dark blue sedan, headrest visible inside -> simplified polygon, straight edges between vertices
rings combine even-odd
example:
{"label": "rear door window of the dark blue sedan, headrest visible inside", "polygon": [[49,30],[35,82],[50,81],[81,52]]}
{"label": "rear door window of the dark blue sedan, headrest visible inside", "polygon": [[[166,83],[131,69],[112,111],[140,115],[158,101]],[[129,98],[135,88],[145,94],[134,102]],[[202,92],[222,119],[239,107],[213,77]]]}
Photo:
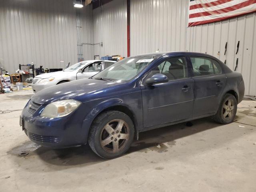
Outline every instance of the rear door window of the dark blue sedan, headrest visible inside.
{"label": "rear door window of the dark blue sedan, headrest visible inside", "polygon": [[190,57],[194,76],[212,75],[221,73],[220,64],[215,60],[204,57]]}

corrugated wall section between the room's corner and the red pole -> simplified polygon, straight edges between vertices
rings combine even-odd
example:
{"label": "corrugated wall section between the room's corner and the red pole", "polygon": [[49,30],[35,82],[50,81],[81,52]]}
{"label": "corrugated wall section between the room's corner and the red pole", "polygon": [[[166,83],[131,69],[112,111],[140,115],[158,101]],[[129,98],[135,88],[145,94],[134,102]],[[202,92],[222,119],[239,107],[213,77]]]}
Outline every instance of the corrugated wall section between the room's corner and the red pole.
{"label": "corrugated wall section between the room's corner and the red pole", "polygon": [[93,10],[94,55],[127,57],[127,2],[113,0]]}

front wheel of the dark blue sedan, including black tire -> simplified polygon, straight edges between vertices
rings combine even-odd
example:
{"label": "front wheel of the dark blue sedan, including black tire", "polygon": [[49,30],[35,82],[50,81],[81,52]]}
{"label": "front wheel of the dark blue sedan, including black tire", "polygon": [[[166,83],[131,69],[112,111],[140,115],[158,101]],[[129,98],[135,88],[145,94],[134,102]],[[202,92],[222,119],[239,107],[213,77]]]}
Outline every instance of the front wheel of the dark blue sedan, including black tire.
{"label": "front wheel of the dark blue sedan, including black tire", "polygon": [[90,128],[88,143],[101,158],[111,159],[124,154],[134,139],[134,125],[128,115],[120,111],[106,111],[98,115]]}

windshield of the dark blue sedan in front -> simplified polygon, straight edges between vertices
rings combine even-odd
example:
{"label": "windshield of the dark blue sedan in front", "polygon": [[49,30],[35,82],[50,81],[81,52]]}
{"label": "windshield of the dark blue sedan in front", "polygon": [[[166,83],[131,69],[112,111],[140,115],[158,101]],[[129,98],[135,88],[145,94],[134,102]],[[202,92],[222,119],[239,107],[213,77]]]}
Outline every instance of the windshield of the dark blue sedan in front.
{"label": "windshield of the dark blue sedan in front", "polygon": [[124,58],[94,75],[93,79],[129,81],[139,74],[159,55]]}

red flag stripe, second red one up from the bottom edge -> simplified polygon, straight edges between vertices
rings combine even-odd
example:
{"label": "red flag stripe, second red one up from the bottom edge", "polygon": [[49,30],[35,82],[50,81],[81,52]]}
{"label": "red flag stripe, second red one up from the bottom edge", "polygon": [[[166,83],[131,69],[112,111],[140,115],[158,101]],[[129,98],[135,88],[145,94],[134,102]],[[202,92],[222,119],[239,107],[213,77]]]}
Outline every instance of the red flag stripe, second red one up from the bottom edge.
{"label": "red flag stripe, second red one up from the bottom edge", "polygon": [[195,18],[195,17],[201,17],[201,16],[209,16],[209,15],[214,15],[214,14],[227,13],[227,12],[230,12],[230,11],[238,10],[239,8],[243,8],[243,7],[249,6],[249,5],[254,4],[254,3],[256,3],[256,0],[248,0],[246,2],[242,2],[240,4],[236,4],[234,6],[226,7],[226,8],[219,9],[219,10],[206,11],[206,12],[190,14],[189,18]]}

